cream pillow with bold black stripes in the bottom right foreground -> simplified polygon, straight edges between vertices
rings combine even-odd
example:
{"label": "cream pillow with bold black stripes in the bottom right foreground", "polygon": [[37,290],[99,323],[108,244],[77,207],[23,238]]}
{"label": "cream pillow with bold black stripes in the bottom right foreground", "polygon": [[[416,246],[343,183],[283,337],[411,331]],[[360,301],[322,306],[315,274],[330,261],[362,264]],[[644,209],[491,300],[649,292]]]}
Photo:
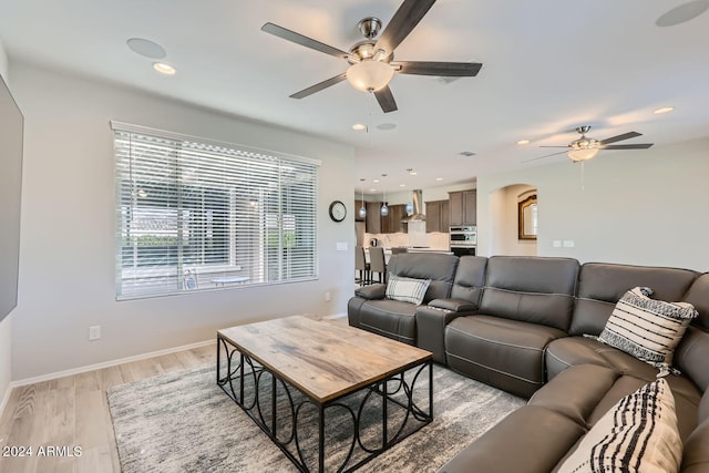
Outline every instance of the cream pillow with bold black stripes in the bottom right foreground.
{"label": "cream pillow with bold black stripes in the bottom right foreground", "polygon": [[606,412],[558,473],[676,473],[681,459],[675,398],[660,378]]}

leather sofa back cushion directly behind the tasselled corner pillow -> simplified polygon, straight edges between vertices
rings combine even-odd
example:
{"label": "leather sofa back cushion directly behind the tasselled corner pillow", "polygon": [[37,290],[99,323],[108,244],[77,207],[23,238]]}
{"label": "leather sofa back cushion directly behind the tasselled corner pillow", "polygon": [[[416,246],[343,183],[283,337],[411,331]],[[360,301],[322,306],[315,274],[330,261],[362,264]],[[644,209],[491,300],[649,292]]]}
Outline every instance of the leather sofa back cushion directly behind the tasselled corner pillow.
{"label": "leather sofa back cushion directly behind the tasselled corner pillow", "polygon": [[698,274],[690,269],[586,263],[580,267],[569,333],[599,336],[623,295],[637,286],[658,300],[685,300]]}

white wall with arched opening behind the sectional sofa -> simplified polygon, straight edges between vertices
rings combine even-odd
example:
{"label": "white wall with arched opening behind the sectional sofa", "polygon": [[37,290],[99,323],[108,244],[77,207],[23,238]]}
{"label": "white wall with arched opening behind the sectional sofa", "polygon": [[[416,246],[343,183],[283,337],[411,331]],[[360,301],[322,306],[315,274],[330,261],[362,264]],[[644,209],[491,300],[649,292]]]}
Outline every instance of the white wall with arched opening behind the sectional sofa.
{"label": "white wall with arched opening behind the sectional sofa", "polygon": [[[583,179],[580,165],[568,161],[479,176],[479,251],[491,254],[491,193],[526,183],[538,191],[540,256],[709,271],[707,150],[709,138],[602,152]],[[555,239],[575,247],[555,248]]]}

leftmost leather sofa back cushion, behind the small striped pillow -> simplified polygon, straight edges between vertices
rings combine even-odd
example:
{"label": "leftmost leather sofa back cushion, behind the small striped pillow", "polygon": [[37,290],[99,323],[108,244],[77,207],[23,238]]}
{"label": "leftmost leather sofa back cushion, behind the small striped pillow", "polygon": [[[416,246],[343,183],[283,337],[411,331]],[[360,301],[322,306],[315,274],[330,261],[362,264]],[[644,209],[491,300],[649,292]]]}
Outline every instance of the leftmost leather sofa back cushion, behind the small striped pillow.
{"label": "leftmost leather sofa back cushion, behind the small striped pillow", "polygon": [[387,270],[390,275],[413,279],[430,279],[423,304],[451,297],[458,268],[458,256],[439,253],[400,253],[392,255]]}

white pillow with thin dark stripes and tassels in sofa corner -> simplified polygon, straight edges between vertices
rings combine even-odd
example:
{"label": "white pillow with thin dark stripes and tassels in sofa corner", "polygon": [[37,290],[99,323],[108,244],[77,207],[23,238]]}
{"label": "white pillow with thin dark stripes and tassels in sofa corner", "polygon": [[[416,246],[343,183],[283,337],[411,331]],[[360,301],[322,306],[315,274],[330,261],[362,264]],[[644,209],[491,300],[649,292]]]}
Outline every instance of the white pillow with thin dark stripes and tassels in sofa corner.
{"label": "white pillow with thin dark stripes and tassels in sofa corner", "polygon": [[653,289],[636,287],[616,305],[598,339],[606,345],[669,369],[675,348],[699,313],[691,304],[650,299]]}

